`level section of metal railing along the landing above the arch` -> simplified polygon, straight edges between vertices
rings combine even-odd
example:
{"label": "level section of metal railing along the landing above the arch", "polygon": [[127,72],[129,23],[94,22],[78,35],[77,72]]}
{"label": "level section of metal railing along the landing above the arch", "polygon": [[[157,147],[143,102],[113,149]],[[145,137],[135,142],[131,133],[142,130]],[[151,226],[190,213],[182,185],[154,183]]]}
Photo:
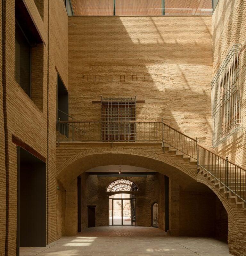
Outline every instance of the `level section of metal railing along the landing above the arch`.
{"label": "level section of metal railing along the landing above the arch", "polygon": [[58,141],[163,141],[162,122],[58,121],[58,131]]}

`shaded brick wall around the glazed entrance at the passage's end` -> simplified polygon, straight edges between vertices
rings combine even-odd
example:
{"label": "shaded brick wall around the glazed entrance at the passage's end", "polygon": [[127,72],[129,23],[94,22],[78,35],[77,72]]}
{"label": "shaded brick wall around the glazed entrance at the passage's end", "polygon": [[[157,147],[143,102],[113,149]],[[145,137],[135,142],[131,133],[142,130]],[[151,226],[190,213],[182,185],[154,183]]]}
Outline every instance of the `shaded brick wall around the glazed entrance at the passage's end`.
{"label": "shaded brick wall around the glazed entrance at the passage's end", "polygon": [[[120,177],[133,181],[139,191],[132,191],[136,196],[136,222],[139,226],[151,226],[151,206],[153,202],[159,202],[158,179],[155,175],[147,177]],[[109,225],[109,195],[115,193],[106,192],[107,186],[118,179],[117,177],[97,177],[89,175],[86,178],[86,205],[96,205],[96,226]],[[87,209],[86,209],[87,210]],[[84,219],[87,219],[87,211]],[[88,223],[86,223],[88,225]],[[86,227],[87,227],[86,225]]]}

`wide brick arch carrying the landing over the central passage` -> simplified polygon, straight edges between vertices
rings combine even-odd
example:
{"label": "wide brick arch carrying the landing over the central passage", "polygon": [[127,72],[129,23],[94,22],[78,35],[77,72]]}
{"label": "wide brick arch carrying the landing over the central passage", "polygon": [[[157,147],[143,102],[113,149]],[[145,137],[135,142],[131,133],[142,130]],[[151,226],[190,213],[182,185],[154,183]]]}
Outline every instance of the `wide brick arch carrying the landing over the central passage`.
{"label": "wide brick arch carrying the landing over the central passage", "polygon": [[91,149],[79,152],[57,168],[57,179],[66,188],[72,180],[88,169],[104,166],[124,164],[156,170],[170,178],[174,178],[182,187],[196,183],[196,165],[189,168],[187,159],[178,157],[177,160],[164,155],[158,155],[133,149]]}

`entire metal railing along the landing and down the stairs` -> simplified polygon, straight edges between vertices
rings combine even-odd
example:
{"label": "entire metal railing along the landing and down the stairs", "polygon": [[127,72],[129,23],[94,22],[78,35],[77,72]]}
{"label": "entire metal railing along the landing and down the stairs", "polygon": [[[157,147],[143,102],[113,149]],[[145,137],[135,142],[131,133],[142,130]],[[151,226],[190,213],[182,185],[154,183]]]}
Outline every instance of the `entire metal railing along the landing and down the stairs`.
{"label": "entire metal railing along the landing and down the stairs", "polygon": [[160,122],[141,121],[58,121],[58,142],[160,142],[197,160],[197,165],[209,172],[246,202],[246,170],[197,144],[182,132]]}

